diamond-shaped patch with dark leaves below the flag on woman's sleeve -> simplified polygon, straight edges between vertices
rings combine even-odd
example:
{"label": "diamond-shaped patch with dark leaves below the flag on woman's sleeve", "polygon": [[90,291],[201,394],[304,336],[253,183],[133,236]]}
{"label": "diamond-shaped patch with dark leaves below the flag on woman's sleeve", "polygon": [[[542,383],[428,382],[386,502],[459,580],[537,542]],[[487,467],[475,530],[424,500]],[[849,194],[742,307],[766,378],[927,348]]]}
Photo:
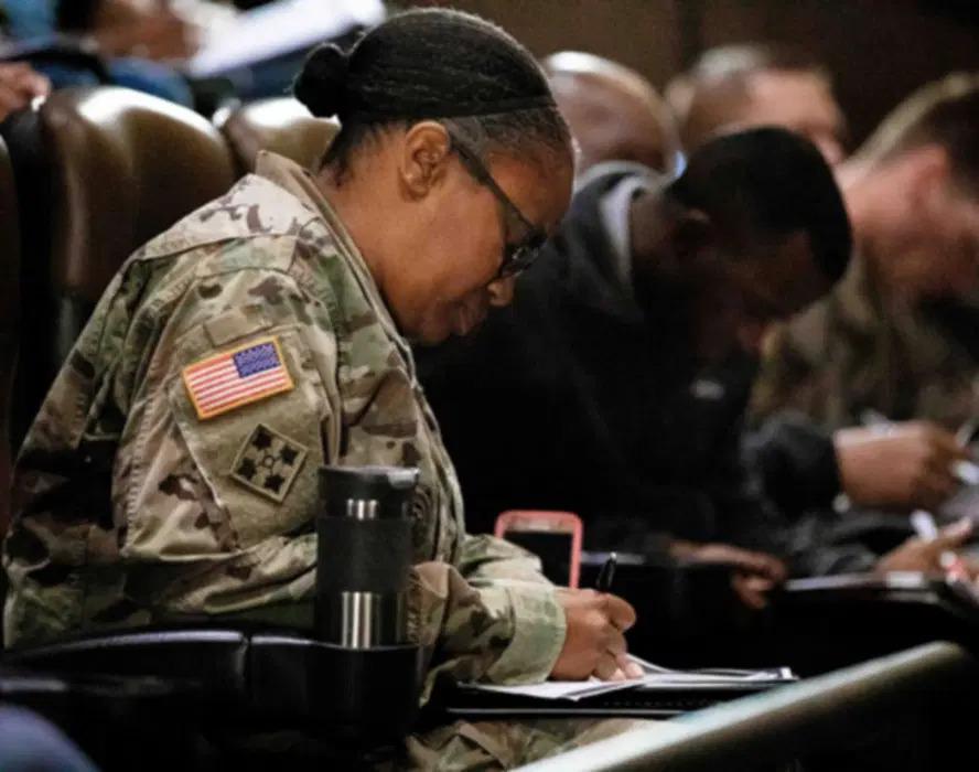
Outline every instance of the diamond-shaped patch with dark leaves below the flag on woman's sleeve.
{"label": "diamond-shaped patch with dark leaves below the flag on woman's sleeve", "polygon": [[238,451],[230,478],[267,498],[282,502],[308,454],[304,446],[259,423]]}

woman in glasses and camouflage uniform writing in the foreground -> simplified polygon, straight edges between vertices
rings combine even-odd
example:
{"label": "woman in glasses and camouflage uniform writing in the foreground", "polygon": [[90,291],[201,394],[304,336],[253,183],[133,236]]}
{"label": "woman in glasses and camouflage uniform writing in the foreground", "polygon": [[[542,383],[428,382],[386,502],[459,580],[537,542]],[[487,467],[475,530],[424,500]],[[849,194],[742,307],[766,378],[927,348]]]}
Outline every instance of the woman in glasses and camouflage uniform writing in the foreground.
{"label": "woman in glasses and camouflage uniform writing in the foreground", "polygon": [[[409,629],[430,676],[639,675],[625,601],[466,535],[407,340],[508,302],[563,214],[571,139],[542,72],[483,20],[417,11],[319,49],[295,94],[340,118],[322,169],[266,154],[138,250],[44,401],[15,471],[7,640],[309,625],[318,469],[394,464],[420,471]],[[607,727],[449,727],[412,763],[510,766]]]}

